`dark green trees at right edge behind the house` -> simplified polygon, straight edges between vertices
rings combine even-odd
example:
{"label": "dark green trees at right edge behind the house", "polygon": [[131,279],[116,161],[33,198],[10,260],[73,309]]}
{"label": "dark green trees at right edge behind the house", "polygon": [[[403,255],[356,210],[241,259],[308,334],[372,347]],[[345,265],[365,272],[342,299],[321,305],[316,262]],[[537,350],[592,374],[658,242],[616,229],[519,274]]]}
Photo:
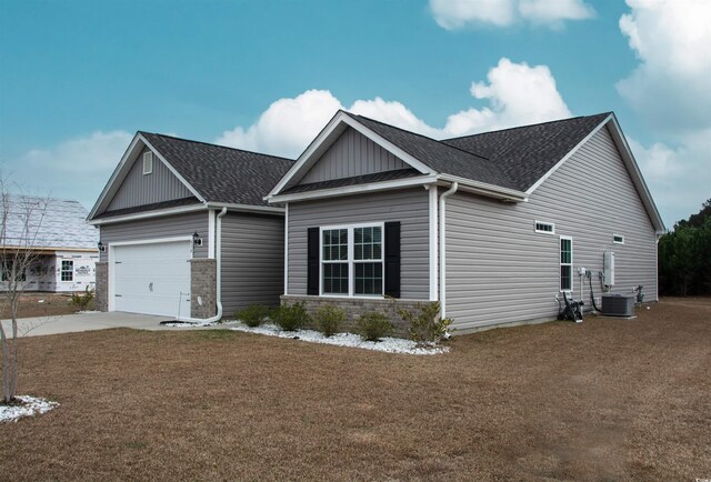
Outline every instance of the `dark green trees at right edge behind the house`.
{"label": "dark green trees at right edge behind the house", "polygon": [[711,294],[711,199],[660,238],[659,292]]}

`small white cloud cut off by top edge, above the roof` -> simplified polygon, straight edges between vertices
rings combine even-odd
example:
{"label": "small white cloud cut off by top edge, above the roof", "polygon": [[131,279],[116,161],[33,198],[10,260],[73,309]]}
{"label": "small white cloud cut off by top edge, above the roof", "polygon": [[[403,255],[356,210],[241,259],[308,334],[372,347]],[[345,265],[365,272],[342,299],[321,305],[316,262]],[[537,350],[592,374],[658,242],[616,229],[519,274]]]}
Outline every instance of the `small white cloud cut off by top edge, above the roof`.
{"label": "small white cloud cut off by top edge, above the roof", "polygon": [[430,0],[430,9],[437,23],[447,30],[519,22],[560,28],[565,20],[595,14],[583,0]]}

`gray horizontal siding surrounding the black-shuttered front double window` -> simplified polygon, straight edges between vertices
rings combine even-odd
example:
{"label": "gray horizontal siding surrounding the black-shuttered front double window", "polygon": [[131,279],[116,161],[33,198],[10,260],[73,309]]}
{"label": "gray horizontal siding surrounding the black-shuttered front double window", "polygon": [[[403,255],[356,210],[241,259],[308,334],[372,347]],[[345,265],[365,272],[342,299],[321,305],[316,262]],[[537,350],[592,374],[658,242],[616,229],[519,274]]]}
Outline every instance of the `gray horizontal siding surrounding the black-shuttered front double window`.
{"label": "gray horizontal siding surrounding the black-shuttered front double window", "polygon": [[423,188],[289,203],[289,294],[307,294],[307,230],[400,221],[401,298],[429,299],[429,198]]}

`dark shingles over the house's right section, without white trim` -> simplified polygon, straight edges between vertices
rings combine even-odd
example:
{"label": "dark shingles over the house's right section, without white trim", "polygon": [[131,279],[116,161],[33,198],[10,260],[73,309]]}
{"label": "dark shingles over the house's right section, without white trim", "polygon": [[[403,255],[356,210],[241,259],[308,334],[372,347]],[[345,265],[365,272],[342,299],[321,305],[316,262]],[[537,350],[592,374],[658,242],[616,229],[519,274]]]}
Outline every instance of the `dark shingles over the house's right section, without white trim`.
{"label": "dark shingles over the house's right section, without white trim", "polygon": [[610,112],[441,141],[349,116],[438,173],[527,191]]}

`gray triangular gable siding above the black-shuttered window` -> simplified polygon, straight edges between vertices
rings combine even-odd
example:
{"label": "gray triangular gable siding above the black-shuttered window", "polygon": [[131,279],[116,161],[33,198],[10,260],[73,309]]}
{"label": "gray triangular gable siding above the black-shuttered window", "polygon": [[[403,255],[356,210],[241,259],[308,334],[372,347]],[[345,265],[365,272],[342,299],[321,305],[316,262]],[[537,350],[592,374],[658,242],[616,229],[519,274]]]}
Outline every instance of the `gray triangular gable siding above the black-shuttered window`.
{"label": "gray triangular gable siding above the black-shuttered window", "polygon": [[307,172],[300,183],[352,178],[408,167],[365,135],[348,128]]}

